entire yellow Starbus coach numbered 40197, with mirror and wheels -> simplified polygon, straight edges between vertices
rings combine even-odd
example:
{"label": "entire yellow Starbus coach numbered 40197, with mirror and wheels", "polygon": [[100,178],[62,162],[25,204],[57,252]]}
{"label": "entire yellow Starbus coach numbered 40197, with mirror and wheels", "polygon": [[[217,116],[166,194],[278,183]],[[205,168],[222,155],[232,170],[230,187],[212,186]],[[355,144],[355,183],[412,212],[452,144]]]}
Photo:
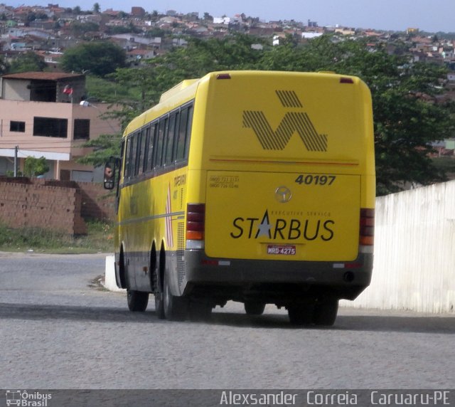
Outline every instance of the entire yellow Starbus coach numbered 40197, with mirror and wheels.
{"label": "entire yellow Starbus coach numbered 40197, with mirror and wheels", "polygon": [[230,71],[184,80],[124,132],[117,285],[129,309],[207,317],[285,307],[331,325],[373,268],[370,91],[334,73]]}

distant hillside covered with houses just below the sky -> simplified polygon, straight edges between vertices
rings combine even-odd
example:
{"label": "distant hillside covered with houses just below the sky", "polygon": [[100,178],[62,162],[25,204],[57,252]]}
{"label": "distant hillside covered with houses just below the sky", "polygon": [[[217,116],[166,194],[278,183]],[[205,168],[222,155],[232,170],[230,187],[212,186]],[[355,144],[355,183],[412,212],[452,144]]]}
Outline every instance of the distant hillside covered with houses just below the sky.
{"label": "distant hillside covered with houses just below the sky", "polygon": [[[80,7],[63,8],[58,4],[48,6],[13,7],[0,4],[0,53],[14,58],[11,51],[64,52],[81,41],[110,39],[129,51],[132,63],[140,58],[149,58],[166,52],[173,46],[186,41],[173,41],[178,37],[220,38],[232,31],[264,36],[270,39],[292,36],[296,41],[309,41],[323,33],[336,33],[338,36],[368,36],[371,41],[387,44],[400,41],[414,61],[432,60],[436,63],[454,63],[454,41],[439,39],[436,36],[422,36],[418,29],[408,28],[403,33],[390,33],[372,29],[352,27],[319,27],[316,21],[259,21],[259,18],[237,14],[235,16],[210,16],[197,12],[179,14],[169,10],[165,14],[157,11],[146,12],[141,7],[132,6],[129,13],[107,9],[100,13],[82,11]],[[188,38],[187,38],[188,39]],[[274,41],[279,44],[280,41]],[[390,52],[401,52],[397,46],[390,46]],[[48,58],[49,59],[49,58]],[[53,60],[53,65],[58,61]]]}

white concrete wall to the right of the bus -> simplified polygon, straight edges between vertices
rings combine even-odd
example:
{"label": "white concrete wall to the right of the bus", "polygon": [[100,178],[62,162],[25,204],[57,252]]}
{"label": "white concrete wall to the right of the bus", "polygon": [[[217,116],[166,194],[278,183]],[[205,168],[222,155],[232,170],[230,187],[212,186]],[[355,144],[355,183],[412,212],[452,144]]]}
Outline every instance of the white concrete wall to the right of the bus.
{"label": "white concrete wall to the right of the bus", "polygon": [[373,279],[341,305],[455,313],[455,181],[376,200]]}

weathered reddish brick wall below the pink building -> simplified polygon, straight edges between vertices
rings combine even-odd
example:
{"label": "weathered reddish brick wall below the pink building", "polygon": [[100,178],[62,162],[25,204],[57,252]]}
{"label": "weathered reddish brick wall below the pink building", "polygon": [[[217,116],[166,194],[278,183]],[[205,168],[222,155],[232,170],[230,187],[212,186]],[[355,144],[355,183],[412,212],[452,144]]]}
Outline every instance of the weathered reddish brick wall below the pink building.
{"label": "weathered reddish brick wall below the pink building", "polygon": [[114,197],[100,184],[0,177],[0,221],[11,228],[87,233],[84,218],[114,218]]}

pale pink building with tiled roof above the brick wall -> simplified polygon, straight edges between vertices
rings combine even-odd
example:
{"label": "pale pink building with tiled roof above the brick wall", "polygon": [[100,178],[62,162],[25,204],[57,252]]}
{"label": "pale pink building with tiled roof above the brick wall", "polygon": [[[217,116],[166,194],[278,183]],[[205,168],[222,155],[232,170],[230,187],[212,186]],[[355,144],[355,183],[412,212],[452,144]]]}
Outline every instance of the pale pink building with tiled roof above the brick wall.
{"label": "pale pink building with tiled roof above the brick wall", "polygon": [[[102,181],[102,170],[77,164],[90,150],[81,144],[120,131],[115,120],[100,118],[105,103],[85,100],[85,76],[28,72],[0,78],[0,175],[19,170],[29,157],[45,157],[45,178]],[[82,105],[81,105],[81,102]]]}

